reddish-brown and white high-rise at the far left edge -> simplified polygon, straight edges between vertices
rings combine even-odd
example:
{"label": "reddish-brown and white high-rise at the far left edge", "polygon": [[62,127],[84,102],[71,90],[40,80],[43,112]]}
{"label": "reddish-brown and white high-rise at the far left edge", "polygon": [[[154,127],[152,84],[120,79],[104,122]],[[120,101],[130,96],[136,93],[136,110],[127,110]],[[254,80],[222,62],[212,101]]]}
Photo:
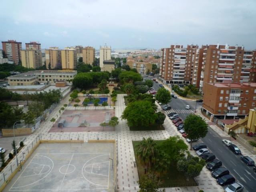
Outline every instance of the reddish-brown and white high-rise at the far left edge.
{"label": "reddish-brown and white high-rise at the far left edge", "polygon": [[21,42],[16,42],[16,40],[2,41],[2,47],[8,60],[13,61],[16,65],[21,61]]}

